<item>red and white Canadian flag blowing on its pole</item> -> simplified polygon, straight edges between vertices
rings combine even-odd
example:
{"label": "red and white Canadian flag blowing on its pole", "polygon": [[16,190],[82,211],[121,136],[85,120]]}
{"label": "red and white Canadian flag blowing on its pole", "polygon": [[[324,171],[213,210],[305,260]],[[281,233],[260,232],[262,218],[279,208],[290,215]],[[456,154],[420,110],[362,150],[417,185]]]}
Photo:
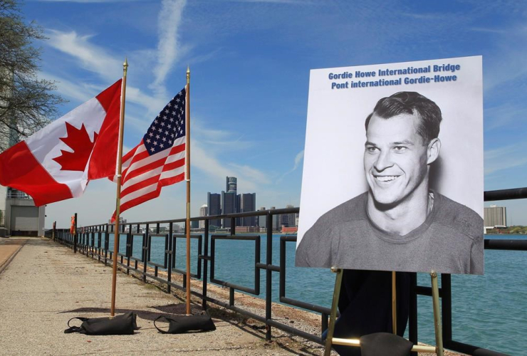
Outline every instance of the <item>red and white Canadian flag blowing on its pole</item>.
{"label": "red and white Canadian flag blowing on its pole", "polygon": [[0,184],[36,206],[83,195],[90,179],[113,177],[121,82],[0,154]]}

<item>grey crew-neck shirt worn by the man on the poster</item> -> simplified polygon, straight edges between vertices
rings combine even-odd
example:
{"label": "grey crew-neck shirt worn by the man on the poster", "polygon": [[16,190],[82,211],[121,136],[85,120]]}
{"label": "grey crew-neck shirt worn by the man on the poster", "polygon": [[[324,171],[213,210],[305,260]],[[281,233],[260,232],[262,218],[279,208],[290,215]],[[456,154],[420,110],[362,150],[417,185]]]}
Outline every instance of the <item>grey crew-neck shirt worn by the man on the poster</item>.
{"label": "grey crew-neck shirt worn by the man on the poster", "polygon": [[367,192],[331,209],[303,236],[296,266],[483,274],[483,219],[434,193],[424,223],[404,236],[376,226]]}

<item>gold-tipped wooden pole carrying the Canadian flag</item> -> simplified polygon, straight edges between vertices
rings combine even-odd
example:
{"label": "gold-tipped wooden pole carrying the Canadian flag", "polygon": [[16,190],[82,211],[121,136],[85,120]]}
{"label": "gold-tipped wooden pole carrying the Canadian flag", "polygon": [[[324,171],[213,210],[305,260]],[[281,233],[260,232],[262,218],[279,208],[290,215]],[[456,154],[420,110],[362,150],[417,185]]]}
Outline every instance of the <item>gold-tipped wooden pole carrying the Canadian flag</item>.
{"label": "gold-tipped wooden pole carrying the Canadian flag", "polygon": [[115,285],[117,283],[117,255],[119,253],[119,213],[121,205],[121,173],[122,173],[122,138],[125,131],[125,93],[126,93],[126,73],[128,70],[128,61],[122,63],[122,83],[121,83],[121,112],[119,123],[119,143],[118,143],[118,165],[117,165],[117,198],[115,206],[115,226],[113,230],[113,273],[112,273],[112,305],[110,307],[110,316],[115,315]]}

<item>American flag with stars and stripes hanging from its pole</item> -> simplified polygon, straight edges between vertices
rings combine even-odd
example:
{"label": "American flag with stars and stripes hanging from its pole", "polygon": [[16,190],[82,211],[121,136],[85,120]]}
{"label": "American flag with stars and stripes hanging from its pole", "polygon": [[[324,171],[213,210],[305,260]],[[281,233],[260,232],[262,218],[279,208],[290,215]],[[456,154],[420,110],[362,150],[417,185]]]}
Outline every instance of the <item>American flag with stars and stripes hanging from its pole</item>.
{"label": "American flag with stars and stripes hanging from its pole", "polygon": [[140,144],[122,157],[121,213],[159,197],[161,187],[184,180],[185,98],[183,88],[157,115]]}

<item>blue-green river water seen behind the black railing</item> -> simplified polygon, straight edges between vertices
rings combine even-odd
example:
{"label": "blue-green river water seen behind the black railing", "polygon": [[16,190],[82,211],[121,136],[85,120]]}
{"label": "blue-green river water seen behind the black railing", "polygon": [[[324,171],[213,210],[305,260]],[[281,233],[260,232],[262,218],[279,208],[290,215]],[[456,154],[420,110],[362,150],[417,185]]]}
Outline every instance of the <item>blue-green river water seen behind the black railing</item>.
{"label": "blue-green river water seen behind the black railing", "polygon": [[[273,264],[280,261],[280,237],[273,235]],[[110,236],[113,251],[113,236]],[[486,235],[486,239],[527,239],[521,235]],[[122,235],[125,241],[125,235]],[[142,238],[135,237],[132,256],[140,258]],[[335,274],[323,268],[296,268],[294,242],[286,243],[286,295],[330,308]],[[210,244],[209,244],[210,248]],[[164,262],[165,238],[152,237],[151,261]],[[125,253],[124,244],[120,252]],[[210,252],[209,252],[210,253]],[[260,261],[266,261],[266,235],[261,235]],[[197,241],[191,244],[191,271],[197,271]],[[255,241],[216,240],[215,277],[253,288]],[[184,270],[185,241],[178,239],[176,268]],[[278,302],[278,273],[273,272],[273,300]],[[430,286],[427,273],[418,284]],[[260,272],[265,298],[266,276]],[[418,296],[419,341],[434,344],[432,298]],[[452,276],[452,335],[454,340],[511,355],[525,355],[527,347],[527,251],[485,251],[484,276]]]}

